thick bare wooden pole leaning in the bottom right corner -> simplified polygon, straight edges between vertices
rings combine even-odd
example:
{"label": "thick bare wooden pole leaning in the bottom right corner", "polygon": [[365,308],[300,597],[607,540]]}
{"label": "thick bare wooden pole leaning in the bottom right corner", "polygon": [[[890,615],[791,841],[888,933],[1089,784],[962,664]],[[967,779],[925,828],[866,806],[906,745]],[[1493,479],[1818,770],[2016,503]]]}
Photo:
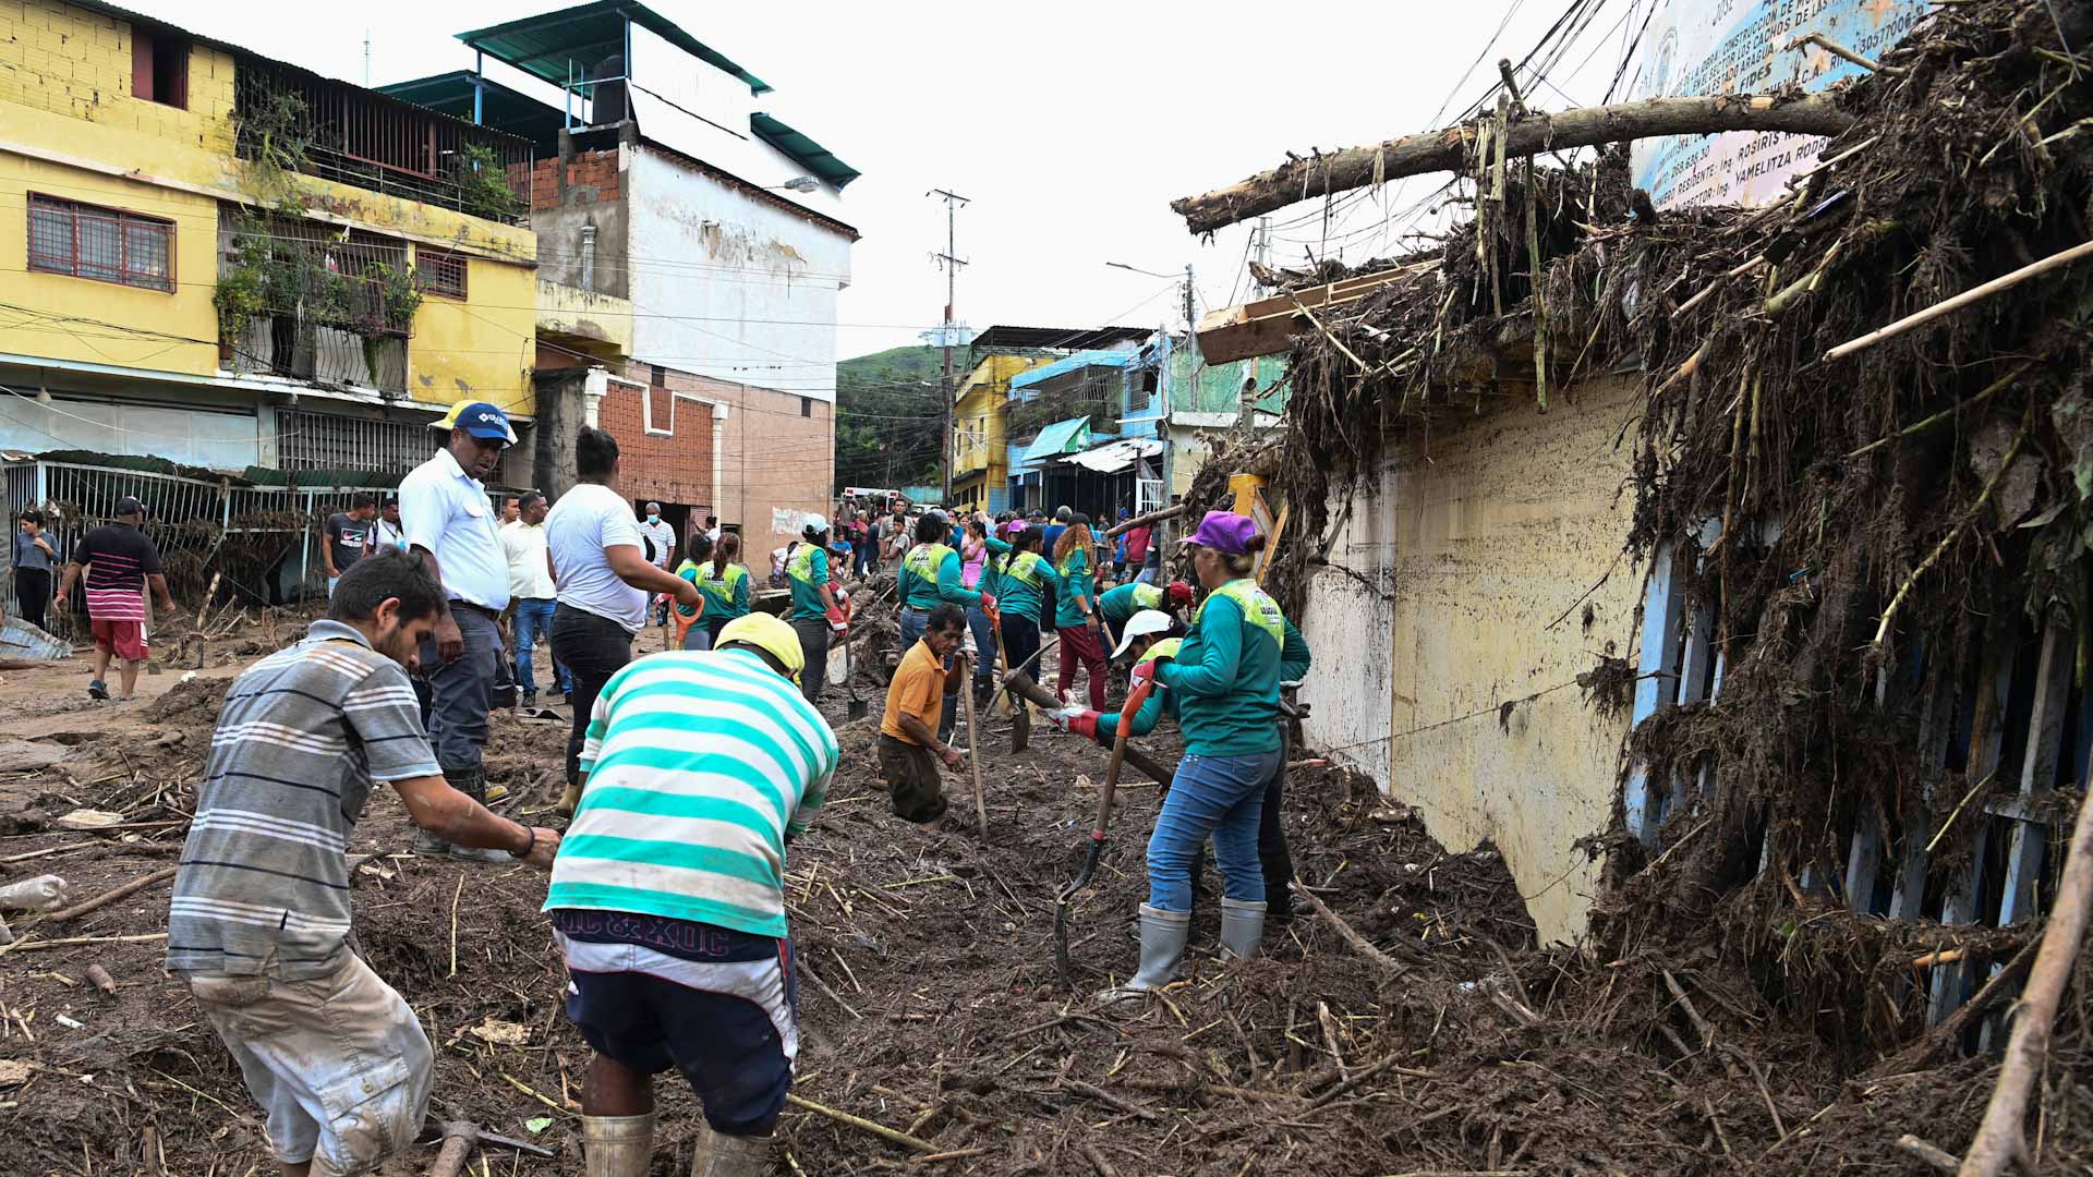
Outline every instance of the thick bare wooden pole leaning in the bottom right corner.
{"label": "thick bare wooden pole leaning in the bottom right corner", "polygon": [[2020,993],[2013,1037],[2007,1039],[2005,1062],[1999,1066],[1999,1085],[1993,1087],[1984,1123],[1970,1141],[1961,1177],[1997,1177],[2007,1164],[2028,1158],[2028,1139],[2022,1131],[2028,1118],[2028,1091],[2049,1062],[2049,1035],[2055,1028],[2064,986],[2072,978],[2072,963],[2078,961],[2089,909],[2093,909],[2093,804],[2080,798],[2072,846],[2064,857],[2064,873],[2057,875],[2057,901],[2043,928],[2043,947],[2036,949],[2034,965],[2028,970],[2028,986]]}

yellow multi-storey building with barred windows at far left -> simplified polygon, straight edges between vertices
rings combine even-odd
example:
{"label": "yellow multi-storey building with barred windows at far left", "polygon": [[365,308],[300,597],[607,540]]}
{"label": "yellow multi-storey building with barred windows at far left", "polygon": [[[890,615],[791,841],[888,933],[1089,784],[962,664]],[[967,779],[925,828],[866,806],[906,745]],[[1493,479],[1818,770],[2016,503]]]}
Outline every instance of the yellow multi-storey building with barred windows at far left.
{"label": "yellow multi-storey building with barred windows at far left", "polygon": [[458,400],[527,427],[530,163],[123,8],[0,4],[0,448],[398,473]]}

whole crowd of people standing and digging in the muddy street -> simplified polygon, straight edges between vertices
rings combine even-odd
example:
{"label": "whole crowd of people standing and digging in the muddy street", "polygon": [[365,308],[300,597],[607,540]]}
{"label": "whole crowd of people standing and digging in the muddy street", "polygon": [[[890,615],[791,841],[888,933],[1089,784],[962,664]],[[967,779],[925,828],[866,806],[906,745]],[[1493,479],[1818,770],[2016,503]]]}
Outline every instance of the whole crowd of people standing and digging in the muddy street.
{"label": "whole crowd of people standing and digging in the muddy street", "polygon": [[[239,1064],[283,1175],[373,1171],[427,1118],[429,1037],[352,947],[345,848],[383,785],[417,827],[417,854],[550,871],[565,1012],[592,1049],[588,1173],[651,1171],[666,1070],[703,1106],[691,1173],[768,1173],[800,1041],[785,854],[841,762],[816,704],[829,647],[850,632],[846,570],[898,578],[902,658],[877,758],[904,821],[944,819],[942,771],[965,767],[950,739],[967,666],[986,702],[998,651],[1005,672],[1026,674],[1046,630],[1061,647],[1053,725],[1107,746],[1164,718],[1183,727],[1187,756],[1149,840],[1141,968],[1101,1001],[1136,1003],[1176,976],[1208,838],[1224,957],[1252,955],[1283,909],[1281,683],[1306,672],[1308,651],[1250,576],[1264,536],[1247,519],[1216,511],[1183,540],[1195,591],[1160,582],[1143,530],[1109,545],[1067,509],[808,515],[772,557],[789,588],[772,616],[751,603],[737,534],[705,519],[678,547],[655,505],[634,515],[611,434],[580,431],[576,484],[557,503],[494,503],[483,480],[515,444],[502,410],[460,404],[440,427],[398,501],[358,496],[329,517],[327,618],[230,685],[174,882],[167,970]],[[165,603],[165,580],[144,509],[123,501],[115,515],[77,545],[59,601],[84,574],[96,687],[119,658],[130,695],[142,637],[126,612],[144,588]],[[21,536],[52,555],[38,526]],[[674,622],[676,637],[634,658],[649,622]],[[553,699],[571,708],[565,829],[490,810],[481,764],[502,691],[519,687],[536,710],[540,639]],[[1105,712],[1113,660],[1130,689]],[[1070,702],[1078,666],[1088,683]]]}

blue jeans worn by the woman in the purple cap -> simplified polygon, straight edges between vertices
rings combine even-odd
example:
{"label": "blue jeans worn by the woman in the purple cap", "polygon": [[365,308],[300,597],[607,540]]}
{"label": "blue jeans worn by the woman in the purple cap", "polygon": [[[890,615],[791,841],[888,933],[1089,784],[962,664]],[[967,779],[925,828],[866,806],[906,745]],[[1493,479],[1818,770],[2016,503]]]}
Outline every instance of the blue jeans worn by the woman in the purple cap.
{"label": "blue jeans worn by the woman in the purple cap", "polygon": [[1222,894],[1264,903],[1258,869],[1258,819],[1264,785],[1279,771],[1283,752],[1256,756],[1185,756],[1164,810],[1149,836],[1149,907],[1191,911],[1191,867],[1206,838],[1214,838]]}

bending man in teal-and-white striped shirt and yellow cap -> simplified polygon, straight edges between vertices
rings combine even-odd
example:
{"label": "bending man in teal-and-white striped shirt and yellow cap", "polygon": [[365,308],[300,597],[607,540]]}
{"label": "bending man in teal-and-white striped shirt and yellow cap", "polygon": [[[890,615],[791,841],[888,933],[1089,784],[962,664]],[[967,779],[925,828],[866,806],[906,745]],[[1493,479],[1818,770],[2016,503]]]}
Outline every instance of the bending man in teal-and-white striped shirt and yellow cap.
{"label": "bending man in teal-and-white striped shirt and yellow cap", "polygon": [[653,1076],[672,1066],[705,1108],[691,1173],[770,1171],[800,1051],[785,844],[839,760],[802,672],[816,670],[793,628],[749,614],[712,651],[643,658],[597,695],[544,903],[567,1018],[597,1051],[582,1087],[592,1177],[645,1177]]}

